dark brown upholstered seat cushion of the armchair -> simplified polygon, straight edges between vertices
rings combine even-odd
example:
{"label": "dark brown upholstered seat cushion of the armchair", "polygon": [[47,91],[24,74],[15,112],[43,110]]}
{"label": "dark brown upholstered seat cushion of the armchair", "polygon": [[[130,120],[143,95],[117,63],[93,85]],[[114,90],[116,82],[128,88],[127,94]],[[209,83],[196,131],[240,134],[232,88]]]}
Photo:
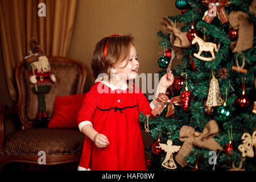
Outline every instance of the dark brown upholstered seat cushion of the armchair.
{"label": "dark brown upholstered seat cushion of the armchair", "polygon": [[5,155],[81,154],[84,134],[77,129],[27,129],[6,136]]}

